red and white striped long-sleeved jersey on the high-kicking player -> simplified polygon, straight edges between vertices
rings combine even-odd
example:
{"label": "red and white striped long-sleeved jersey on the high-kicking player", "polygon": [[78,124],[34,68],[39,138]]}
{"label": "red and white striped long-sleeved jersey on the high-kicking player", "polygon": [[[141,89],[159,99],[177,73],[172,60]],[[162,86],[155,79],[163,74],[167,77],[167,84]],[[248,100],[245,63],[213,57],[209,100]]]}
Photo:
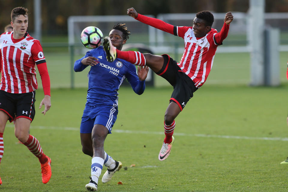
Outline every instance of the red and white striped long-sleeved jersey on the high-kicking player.
{"label": "red and white striped long-sleeved jersey on the high-kicking player", "polygon": [[222,45],[222,41],[227,37],[229,25],[224,23],[219,33],[211,28],[205,37],[197,38],[192,27],[174,26],[139,13],[135,19],[184,39],[185,51],[178,66],[193,80],[195,86],[200,88],[209,75],[217,46]]}

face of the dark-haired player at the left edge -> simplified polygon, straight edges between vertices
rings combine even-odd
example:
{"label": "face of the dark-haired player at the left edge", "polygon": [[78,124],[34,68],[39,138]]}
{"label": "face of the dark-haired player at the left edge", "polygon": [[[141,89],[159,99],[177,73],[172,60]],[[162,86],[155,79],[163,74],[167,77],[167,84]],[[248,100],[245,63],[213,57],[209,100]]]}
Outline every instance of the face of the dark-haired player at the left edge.
{"label": "face of the dark-haired player at the left edge", "polygon": [[11,22],[13,27],[13,37],[16,39],[24,37],[28,28],[28,17],[27,15],[19,15],[13,22]]}

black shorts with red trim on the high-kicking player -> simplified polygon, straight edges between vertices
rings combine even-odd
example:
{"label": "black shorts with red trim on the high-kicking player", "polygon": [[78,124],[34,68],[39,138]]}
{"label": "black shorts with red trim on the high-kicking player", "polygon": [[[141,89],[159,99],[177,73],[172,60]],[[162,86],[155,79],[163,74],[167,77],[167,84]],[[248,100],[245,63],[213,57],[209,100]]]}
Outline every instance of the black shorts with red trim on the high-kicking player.
{"label": "black shorts with red trim on the high-kicking player", "polygon": [[174,90],[170,102],[175,102],[182,111],[198,88],[195,87],[192,79],[182,72],[176,61],[170,58],[169,55],[162,56],[164,57],[164,64],[157,75],[166,79],[173,86]]}

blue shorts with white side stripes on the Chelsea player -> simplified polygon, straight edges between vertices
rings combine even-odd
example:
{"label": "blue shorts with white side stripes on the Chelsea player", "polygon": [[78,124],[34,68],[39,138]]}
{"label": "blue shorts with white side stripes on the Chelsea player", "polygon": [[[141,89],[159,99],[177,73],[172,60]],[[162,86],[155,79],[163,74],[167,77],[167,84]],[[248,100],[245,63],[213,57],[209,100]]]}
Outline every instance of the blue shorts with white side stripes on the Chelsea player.
{"label": "blue shorts with white side stripes on the Chelsea player", "polygon": [[105,126],[109,133],[111,133],[111,128],[117,119],[117,114],[118,106],[116,104],[108,106],[85,105],[80,125],[80,133],[91,133],[96,124]]}

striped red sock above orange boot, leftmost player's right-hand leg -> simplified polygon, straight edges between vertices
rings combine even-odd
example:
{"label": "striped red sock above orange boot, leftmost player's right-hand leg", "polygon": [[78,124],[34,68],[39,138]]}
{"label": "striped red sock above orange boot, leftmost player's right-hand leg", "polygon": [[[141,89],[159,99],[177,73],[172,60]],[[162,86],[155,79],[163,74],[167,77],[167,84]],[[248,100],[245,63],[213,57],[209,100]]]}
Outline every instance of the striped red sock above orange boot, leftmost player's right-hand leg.
{"label": "striped red sock above orange boot, leftmost player's right-hand leg", "polygon": [[48,161],[48,158],[43,153],[39,141],[35,137],[29,135],[29,139],[23,144],[27,146],[29,151],[31,151],[36,157],[38,157],[41,164],[44,164]]}

